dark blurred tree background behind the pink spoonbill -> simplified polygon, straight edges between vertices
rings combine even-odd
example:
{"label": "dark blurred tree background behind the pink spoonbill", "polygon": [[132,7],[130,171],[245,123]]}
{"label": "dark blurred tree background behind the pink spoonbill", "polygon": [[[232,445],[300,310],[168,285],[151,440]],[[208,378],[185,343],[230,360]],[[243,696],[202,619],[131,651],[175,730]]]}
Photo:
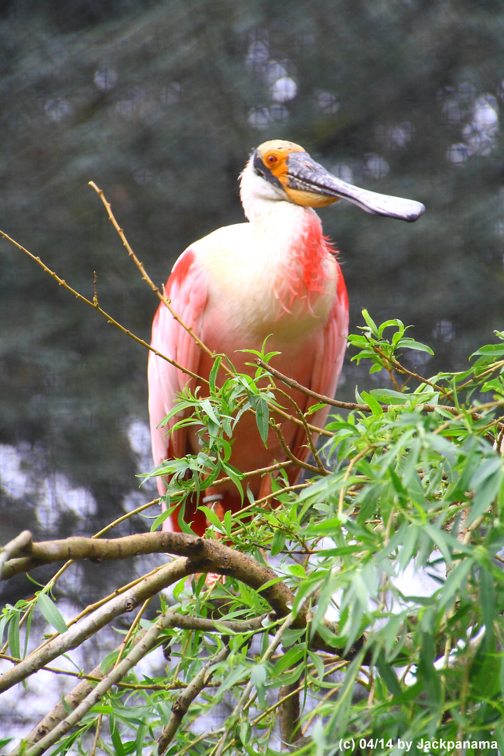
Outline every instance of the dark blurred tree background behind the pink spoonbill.
{"label": "dark blurred tree background behind the pink spoonbill", "polygon": [[[270,138],[425,203],[415,225],[321,212],[352,330],[363,306],[414,324],[434,373],[504,327],[499,0],[3,0],[0,16],[0,228],[91,298],[96,271],[138,336],[157,302],[88,181],[161,284],[243,220],[237,176]],[[97,531],[150,495],[147,352],[4,240],[0,271],[2,541]],[[344,376],[342,398],[369,380]]]}

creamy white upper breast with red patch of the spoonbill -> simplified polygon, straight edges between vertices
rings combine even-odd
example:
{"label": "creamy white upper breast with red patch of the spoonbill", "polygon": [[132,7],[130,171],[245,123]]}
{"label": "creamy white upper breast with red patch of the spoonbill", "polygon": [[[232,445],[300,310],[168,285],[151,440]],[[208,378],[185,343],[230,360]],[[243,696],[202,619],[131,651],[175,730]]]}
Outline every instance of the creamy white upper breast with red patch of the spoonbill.
{"label": "creamy white upper breast with red patch of the spoonbill", "polygon": [[341,275],[332,256],[315,270],[286,234],[258,234],[249,223],[221,228],[193,251],[208,282],[201,336],[215,351],[258,349],[270,334],[289,345],[325,327]]}

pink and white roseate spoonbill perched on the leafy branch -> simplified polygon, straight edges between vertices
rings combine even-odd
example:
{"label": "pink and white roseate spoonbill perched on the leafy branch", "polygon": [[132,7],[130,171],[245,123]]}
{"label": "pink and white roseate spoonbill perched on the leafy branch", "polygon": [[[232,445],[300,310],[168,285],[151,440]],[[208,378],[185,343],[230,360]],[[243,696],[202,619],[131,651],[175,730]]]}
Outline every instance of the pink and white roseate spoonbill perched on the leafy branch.
{"label": "pink and white roseate spoonbill perched on the leafy branch", "polygon": [[[413,200],[388,197],[341,181],[312,160],[298,144],[267,141],[252,153],[241,175],[240,196],[248,222],[225,226],[191,244],[178,258],[166,285],[166,295],[179,318],[212,352],[230,356],[235,367],[252,373],[246,362],[251,355],[240,349],[261,349],[267,336],[267,351],[280,352],[271,364],[315,392],[333,396],[342,369],[348,334],[348,298],[345,282],[332,246],[323,236],[314,207],[340,198],[366,212],[415,221],[424,206]],[[153,321],[152,345],[193,373],[209,377],[212,359],[196,345],[187,330],[160,305]],[[199,451],[196,432],[159,423],[172,410],[175,398],[196,380],[188,379],[168,362],[150,352],[149,411],[153,458],[184,457]],[[301,411],[314,400],[290,390]],[[205,395],[204,384],[200,395]],[[292,407],[288,408],[292,413]],[[310,422],[320,426],[327,410],[319,410]],[[283,437],[292,453],[307,459],[305,432],[294,423],[282,423]],[[237,426],[230,463],[241,472],[286,460],[277,435],[271,432],[267,448],[261,441],[255,419],[244,414]],[[289,469],[294,483],[298,468]],[[158,478],[159,492],[165,492]],[[255,497],[261,478],[249,479]],[[236,511],[240,495],[231,483],[208,493],[220,500],[218,507]],[[203,534],[206,518],[198,502],[186,504],[184,519]],[[177,513],[165,522],[179,530]]]}

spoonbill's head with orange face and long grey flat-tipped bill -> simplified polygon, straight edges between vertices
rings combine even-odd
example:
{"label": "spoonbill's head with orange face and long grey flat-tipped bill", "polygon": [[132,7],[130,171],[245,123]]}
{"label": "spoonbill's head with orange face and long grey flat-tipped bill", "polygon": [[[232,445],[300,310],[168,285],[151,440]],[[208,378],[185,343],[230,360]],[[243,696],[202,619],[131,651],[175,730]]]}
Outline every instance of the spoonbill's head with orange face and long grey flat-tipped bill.
{"label": "spoonbill's head with orange face and long grey flat-tipped bill", "polygon": [[[374,215],[413,222],[425,207],[415,200],[360,189],[316,163],[303,147],[274,139],[261,144],[242,174],[243,206],[254,200],[284,200],[305,207],[323,207],[348,200]],[[247,213],[249,214],[249,213]]]}

